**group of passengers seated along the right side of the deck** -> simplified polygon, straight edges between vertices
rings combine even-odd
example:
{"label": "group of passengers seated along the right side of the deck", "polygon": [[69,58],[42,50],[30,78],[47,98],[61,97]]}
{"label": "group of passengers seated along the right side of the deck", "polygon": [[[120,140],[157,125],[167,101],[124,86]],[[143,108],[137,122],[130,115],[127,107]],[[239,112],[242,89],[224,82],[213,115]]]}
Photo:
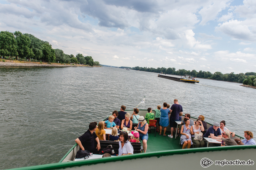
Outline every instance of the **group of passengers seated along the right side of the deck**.
{"label": "group of passengers seated along the right side of the deck", "polygon": [[[189,114],[185,114],[183,124],[180,130],[181,134],[181,144],[184,148],[190,148],[193,145],[194,148],[205,147],[207,145],[207,140],[205,138],[216,139],[221,142],[221,144],[209,143],[209,146],[228,146],[228,145],[256,145],[253,139],[253,133],[251,131],[244,131],[245,139],[242,141],[238,138],[232,139],[230,136],[234,137],[235,132],[228,130],[225,121],[220,123],[216,122],[213,126],[207,129],[207,124],[204,121],[204,116],[200,115],[198,119],[194,122],[190,119]],[[192,123],[191,123],[192,122]],[[207,130],[205,132],[205,130]],[[202,136],[204,139],[195,139],[195,133],[205,132]]]}

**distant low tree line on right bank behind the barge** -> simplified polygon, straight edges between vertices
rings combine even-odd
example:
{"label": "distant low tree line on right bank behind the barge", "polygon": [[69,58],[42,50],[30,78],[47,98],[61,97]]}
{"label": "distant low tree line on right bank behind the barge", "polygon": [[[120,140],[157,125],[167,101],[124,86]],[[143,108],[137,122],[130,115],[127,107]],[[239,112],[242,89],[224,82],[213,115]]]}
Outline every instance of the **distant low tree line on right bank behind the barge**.
{"label": "distant low tree line on right bank behind the barge", "polygon": [[[120,67],[120,68],[128,68],[128,67]],[[164,74],[172,74],[172,75],[191,75],[198,78],[204,78],[204,79],[214,79],[214,80],[221,80],[221,81],[229,81],[229,82],[238,82],[243,83],[244,85],[251,85],[256,86],[256,73],[254,72],[247,72],[247,73],[239,73],[234,74],[234,72],[223,74],[221,72],[215,72],[211,73],[209,71],[202,71],[200,70],[197,72],[196,70],[185,70],[185,69],[179,69],[176,70],[173,68],[164,68],[164,67],[158,67],[157,69],[152,67],[129,67],[131,70],[139,70],[139,71],[147,71],[147,72],[154,72],[154,73],[164,73]]]}

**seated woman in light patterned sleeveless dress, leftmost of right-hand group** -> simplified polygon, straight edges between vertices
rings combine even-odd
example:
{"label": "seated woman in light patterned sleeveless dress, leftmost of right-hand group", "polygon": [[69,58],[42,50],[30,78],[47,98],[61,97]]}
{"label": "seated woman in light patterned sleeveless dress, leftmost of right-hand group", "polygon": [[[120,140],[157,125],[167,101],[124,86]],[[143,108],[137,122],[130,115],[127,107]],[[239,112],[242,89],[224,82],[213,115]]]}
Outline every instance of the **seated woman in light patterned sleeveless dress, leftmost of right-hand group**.
{"label": "seated woman in light patterned sleeveless dress, leftmost of right-hand group", "polygon": [[193,144],[192,139],[191,139],[191,134],[193,133],[191,126],[189,125],[190,120],[187,118],[184,118],[185,124],[181,127],[180,130],[180,140],[181,140],[181,145],[182,149],[185,149],[186,146],[190,148],[190,146]]}

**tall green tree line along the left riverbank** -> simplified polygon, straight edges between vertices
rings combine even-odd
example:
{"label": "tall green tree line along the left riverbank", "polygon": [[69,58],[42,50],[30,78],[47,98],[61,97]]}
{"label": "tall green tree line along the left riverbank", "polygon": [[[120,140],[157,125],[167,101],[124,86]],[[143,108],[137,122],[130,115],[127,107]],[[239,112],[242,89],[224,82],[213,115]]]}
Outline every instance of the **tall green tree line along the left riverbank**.
{"label": "tall green tree line along the left riverbank", "polygon": [[77,54],[64,54],[61,49],[52,49],[52,45],[40,40],[31,34],[22,34],[20,31],[14,33],[9,31],[0,32],[0,57],[5,59],[36,60],[51,63],[75,63],[87,64],[89,66],[100,65],[98,61],[93,61],[91,56],[84,57]]}

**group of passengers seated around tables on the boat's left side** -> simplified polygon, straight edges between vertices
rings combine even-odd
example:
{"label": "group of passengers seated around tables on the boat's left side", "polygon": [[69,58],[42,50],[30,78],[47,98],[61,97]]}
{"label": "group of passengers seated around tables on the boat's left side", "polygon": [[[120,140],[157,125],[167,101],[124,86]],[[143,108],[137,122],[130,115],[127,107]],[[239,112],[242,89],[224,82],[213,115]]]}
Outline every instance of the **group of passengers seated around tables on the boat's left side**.
{"label": "group of passengers seated around tables on the boat's left side", "polygon": [[[75,141],[80,146],[81,150],[94,151],[95,142],[97,142],[96,149],[99,151],[100,140],[119,141],[119,150],[117,155],[133,154],[133,146],[130,142],[143,142],[143,151],[147,150],[148,140],[148,124],[143,116],[139,116],[139,109],[135,108],[133,114],[124,112],[125,106],[121,106],[120,112],[116,110],[112,112],[106,121],[100,121],[97,126],[97,122],[89,124],[89,130]],[[149,110],[152,109],[150,108]],[[149,111],[150,112],[150,111]],[[153,114],[154,115],[154,114]],[[132,130],[133,123],[138,124],[134,127],[134,131],[131,133],[133,136],[129,137],[128,133]],[[121,132],[118,135],[118,129]],[[104,129],[111,129],[111,134],[106,135]]]}

